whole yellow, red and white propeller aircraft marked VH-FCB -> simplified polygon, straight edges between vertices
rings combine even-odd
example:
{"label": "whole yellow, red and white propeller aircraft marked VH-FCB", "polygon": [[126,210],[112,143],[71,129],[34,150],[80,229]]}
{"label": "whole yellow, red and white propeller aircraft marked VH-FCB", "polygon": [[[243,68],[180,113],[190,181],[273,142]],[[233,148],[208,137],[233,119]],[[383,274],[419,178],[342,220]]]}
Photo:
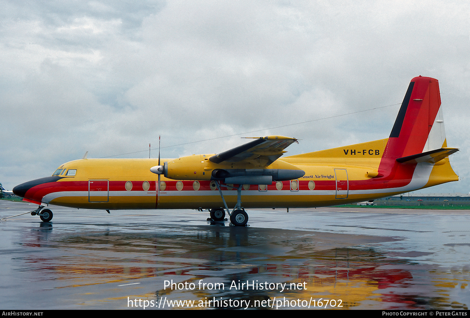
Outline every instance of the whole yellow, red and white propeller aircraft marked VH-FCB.
{"label": "whole yellow, red and white propeller aircraft marked VH-FCB", "polygon": [[[448,156],[439,83],[411,80],[388,138],[282,157],[297,139],[266,136],[219,154],[177,159],[84,159],[13,192],[39,204],[103,209],[210,209],[244,226],[244,208],[321,207],[356,203],[458,181]],[[161,179],[161,180],[160,180]],[[158,188],[157,188],[158,185]],[[243,204],[242,204],[243,202]],[[229,206],[232,207],[229,209]]]}

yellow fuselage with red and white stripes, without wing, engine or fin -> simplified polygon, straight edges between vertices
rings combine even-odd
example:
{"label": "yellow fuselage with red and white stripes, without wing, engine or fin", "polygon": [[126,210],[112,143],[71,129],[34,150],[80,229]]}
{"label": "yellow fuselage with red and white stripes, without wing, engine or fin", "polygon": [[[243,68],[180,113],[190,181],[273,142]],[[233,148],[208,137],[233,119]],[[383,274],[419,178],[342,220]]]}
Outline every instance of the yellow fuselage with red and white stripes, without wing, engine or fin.
{"label": "yellow fuselage with red and white stripes, without wing, engine or fin", "polygon": [[[405,171],[379,171],[388,139],[317,151],[278,159],[267,168],[295,166],[305,175],[269,185],[244,185],[243,207],[285,208],[347,204],[390,196],[439,183],[458,180],[448,159],[431,165],[406,165]],[[62,166],[55,182],[28,191],[29,198],[42,204],[92,209],[177,209],[219,208],[222,199],[208,172],[215,166],[200,156],[197,169],[188,168],[191,180],[162,176],[157,191],[157,174],[149,171],[157,159],[80,159]],[[175,159],[163,159],[172,162]],[[220,166],[217,166],[220,167]],[[245,167],[247,168],[247,167]],[[75,175],[67,175],[68,170]],[[196,176],[192,176],[192,170]],[[379,174],[380,173],[380,174]],[[392,175],[393,174],[393,175]],[[53,177],[50,177],[53,178]],[[205,179],[205,180],[204,180]],[[233,187],[231,187],[233,186]],[[222,187],[227,205],[237,201],[237,185]],[[35,189],[37,188],[37,189]]]}

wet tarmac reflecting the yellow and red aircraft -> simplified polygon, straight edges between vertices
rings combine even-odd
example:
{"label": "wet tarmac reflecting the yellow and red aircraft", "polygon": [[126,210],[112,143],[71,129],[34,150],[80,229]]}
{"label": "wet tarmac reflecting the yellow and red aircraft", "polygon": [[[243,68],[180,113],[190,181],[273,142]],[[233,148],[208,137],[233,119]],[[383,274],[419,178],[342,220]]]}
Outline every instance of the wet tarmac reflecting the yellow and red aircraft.
{"label": "wet tarmac reflecting the yellow and red aircraft", "polygon": [[[0,200],[0,218],[34,204]],[[3,309],[468,309],[470,211],[52,206],[0,222]]]}

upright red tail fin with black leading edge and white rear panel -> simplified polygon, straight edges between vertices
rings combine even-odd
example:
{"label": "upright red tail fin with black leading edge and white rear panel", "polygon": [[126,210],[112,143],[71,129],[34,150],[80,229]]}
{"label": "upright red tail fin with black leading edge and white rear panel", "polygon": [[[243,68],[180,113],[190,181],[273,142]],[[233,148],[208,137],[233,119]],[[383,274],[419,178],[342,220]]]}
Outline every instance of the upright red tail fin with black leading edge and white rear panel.
{"label": "upright red tail fin with black leading edge and white rear panel", "polygon": [[399,159],[447,147],[440,105],[438,80],[423,76],[413,78],[384,155]]}

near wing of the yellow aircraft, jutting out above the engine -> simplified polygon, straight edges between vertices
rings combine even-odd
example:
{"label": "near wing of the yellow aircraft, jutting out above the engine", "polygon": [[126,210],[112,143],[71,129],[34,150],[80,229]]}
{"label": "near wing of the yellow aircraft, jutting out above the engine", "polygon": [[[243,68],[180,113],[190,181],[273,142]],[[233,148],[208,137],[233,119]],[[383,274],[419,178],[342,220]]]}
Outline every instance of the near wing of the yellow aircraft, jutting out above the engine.
{"label": "near wing of the yellow aircraft, jutting out above the engine", "polygon": [[287,152],[284,151],[287,146],[294,142],[298,143],[296,138],[284,136],[254,137],[254,139],[256,140],[220,152],[209,158],[209,160],[214,163],[221,163],[223,161],[227,163],[245,161],[256,167],[267,167],[281,157],[283,153]]}

